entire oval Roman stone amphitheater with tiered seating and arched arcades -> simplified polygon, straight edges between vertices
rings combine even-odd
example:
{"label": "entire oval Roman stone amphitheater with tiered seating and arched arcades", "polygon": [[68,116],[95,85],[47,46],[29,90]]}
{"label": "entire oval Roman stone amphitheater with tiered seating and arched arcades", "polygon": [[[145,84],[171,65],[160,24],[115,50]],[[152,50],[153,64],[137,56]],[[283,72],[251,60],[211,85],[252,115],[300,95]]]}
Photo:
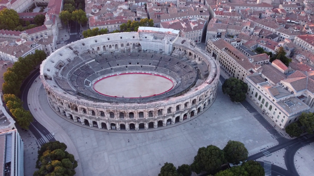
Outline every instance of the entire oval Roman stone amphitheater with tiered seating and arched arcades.
{"label": "entire oval Roman stone amphitheater with tiered seating and arched arcades", "polygon": [[64,118],[129,131],[203,111],[215,97],[219,65],[177,30],[140,27],[68,44],[43,61],[40,74]]}

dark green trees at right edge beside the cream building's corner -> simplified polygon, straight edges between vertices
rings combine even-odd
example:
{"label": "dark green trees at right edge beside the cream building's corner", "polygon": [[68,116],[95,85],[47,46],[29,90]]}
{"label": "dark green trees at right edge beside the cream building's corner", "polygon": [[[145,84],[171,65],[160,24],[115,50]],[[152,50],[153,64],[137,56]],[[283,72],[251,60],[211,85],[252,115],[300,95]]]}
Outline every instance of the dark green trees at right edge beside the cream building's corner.
{"label": "dark green trees at right edge beside the cream building's corner", "polygon": [[303,112],[299,116],[297,122],[291,123],[285,128],[286,132],[291,137],[299,137],[303,132],[308,134],[313,134],[314,131],[314,113],[305,113]]}

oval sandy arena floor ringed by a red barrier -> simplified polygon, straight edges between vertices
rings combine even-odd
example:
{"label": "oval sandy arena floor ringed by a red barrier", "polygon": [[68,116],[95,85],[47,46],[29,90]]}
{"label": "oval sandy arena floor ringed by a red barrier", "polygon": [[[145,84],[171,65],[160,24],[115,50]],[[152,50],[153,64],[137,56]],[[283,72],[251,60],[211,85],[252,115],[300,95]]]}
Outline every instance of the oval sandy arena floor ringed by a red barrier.
{"label": "oval sandy arena floor ringed by a red barrier", "polygon": [[120,74],[105,77],[94,84],[94,90],[105,96],[139,98],[163,94],[173,88],[173,82],[160,75]]}

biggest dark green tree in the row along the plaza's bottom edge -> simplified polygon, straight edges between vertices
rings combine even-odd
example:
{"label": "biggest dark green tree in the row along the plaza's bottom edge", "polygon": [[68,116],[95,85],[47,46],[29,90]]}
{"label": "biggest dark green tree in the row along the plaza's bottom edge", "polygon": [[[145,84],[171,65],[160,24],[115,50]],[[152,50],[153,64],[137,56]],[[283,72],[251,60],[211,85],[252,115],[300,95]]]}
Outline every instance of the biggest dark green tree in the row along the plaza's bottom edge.
{"label": "biggest dark green tree in the row along the plaza's bottom edge", "polygon": [[220,166],[225,163],[225,155],[222,150],[214,145],[209,145],[206,148],[198,149],[197,155],[191,164],[192,171],[200,173],[206,170],[209,173],[216,172]]}

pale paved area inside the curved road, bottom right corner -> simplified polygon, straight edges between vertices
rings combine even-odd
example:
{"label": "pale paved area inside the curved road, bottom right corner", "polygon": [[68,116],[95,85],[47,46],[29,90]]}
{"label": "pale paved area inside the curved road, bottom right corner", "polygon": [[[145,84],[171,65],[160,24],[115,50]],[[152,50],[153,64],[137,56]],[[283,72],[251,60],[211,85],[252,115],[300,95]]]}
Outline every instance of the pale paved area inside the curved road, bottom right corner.
{"label": "pale paved area inside the curved road, bottom right corner", "polygon": [[314,143],[300,148],[295,153],[295,168],[300,176],[314,175]]}

